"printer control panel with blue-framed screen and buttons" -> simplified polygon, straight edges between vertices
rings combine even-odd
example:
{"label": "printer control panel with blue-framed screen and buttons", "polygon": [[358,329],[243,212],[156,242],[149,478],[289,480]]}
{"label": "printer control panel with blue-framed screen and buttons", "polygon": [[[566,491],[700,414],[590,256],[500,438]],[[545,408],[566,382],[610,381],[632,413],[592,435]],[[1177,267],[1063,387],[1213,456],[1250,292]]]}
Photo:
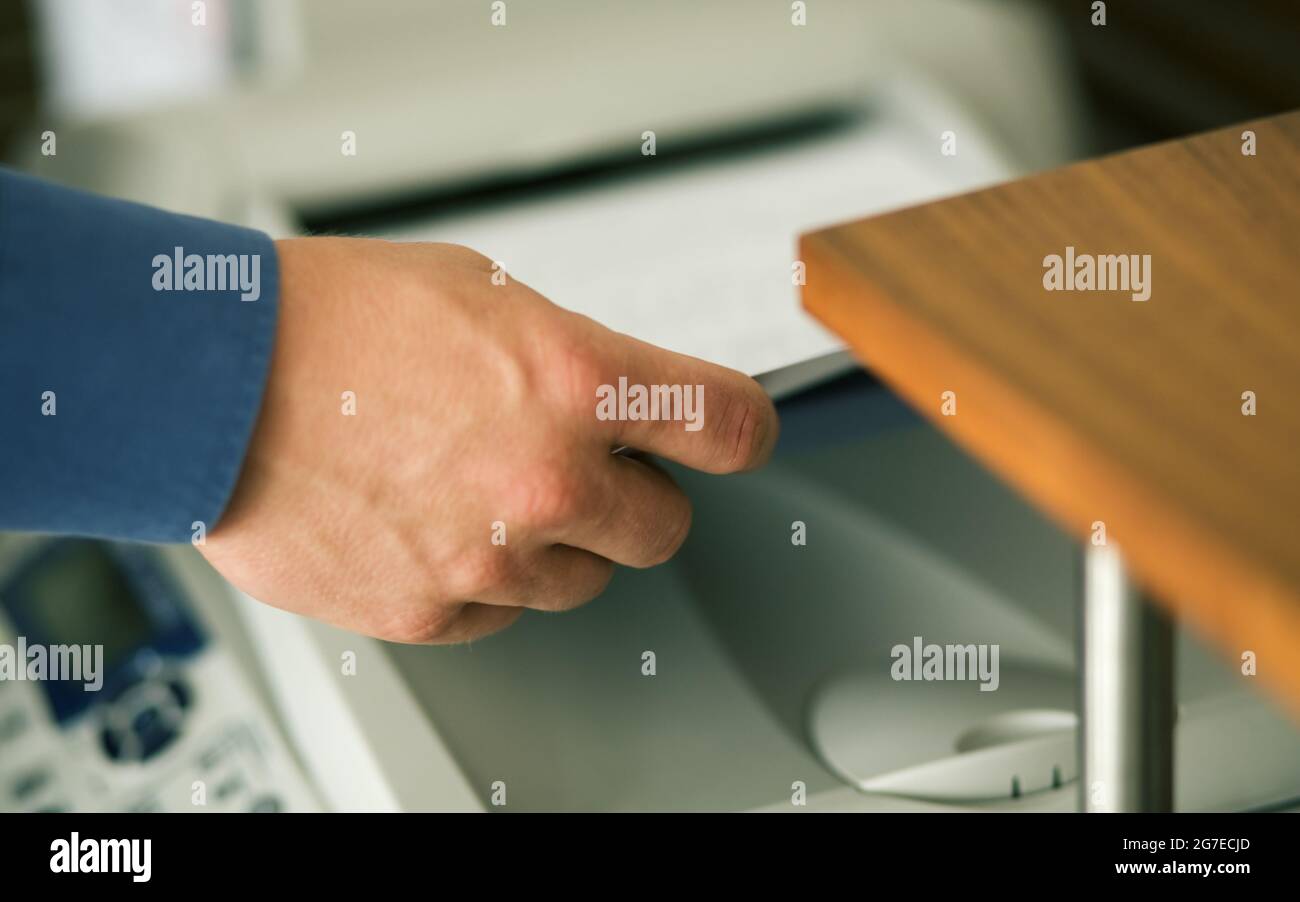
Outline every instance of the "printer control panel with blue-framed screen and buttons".
{"label": "printer control panel with blue-framed screen and buttons", "polygon": [[317,807],[186,554],[0,543],[0,811]]}

